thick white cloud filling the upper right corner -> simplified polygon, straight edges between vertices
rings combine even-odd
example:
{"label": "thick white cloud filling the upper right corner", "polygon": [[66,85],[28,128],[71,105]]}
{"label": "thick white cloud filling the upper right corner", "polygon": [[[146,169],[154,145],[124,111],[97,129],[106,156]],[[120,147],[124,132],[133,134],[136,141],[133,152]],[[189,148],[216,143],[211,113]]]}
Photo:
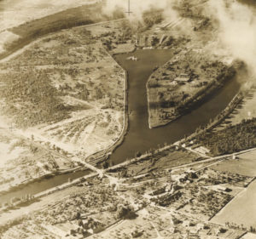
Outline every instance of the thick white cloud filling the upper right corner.
{"label": "thick white cloud filling the upper right corner", "polygon": [[256,16],[252,6],[224,0],[210,0],[213,18],[218,20],[220,43],[230,50],[234,58],[243,60],[250,71],[251,80],[256,76]]}

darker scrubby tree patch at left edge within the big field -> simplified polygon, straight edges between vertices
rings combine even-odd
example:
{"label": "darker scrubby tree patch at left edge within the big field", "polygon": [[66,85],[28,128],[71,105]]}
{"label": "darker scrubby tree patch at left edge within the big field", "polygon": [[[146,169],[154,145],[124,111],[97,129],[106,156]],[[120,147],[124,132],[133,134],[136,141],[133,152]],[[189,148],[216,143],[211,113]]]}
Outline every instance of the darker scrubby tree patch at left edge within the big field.
{"label": "darker scrubby tree patch at left edge within the big field", "polygon": [[2,80],[0,96],[6,102],[3,110],[15,116],[17,125],[26,128],[69,117],[72,109],[62,104],[56,88],[43,71],[13,71],[2,76]]}

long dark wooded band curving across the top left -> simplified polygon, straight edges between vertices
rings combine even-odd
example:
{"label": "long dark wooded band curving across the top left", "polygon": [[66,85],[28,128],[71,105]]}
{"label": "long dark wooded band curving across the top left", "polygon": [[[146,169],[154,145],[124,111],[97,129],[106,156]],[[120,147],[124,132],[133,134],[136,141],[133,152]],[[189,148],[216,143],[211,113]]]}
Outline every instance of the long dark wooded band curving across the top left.
{"label": "long dark wooded band curving across the top left", "polygon": [[20,38],[15,42],[6,43],[5,48],[7,51],[0,54],[0,57],[3,58],[15,52],[15,50],[31,43],[37,37],[43,37],[55,31],[124,17],[124,14],[119,10],[113,11],[112,16],[101,14],[103,7],[101,3],[90,4],[90,6],[84,5],[15,26],[10,31],[19,35]]}

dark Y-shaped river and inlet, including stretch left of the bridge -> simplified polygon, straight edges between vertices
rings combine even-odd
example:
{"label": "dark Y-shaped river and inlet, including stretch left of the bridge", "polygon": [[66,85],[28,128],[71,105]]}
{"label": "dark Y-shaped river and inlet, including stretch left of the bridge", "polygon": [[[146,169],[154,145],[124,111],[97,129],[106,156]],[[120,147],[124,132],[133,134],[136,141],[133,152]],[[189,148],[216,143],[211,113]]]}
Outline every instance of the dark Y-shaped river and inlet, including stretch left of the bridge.
{"label": "dark Y-shaped river and inlet, including stretch left of the bridge", "polygon": [[[126,60],[128,56],[132,55],[136,56],[138,61]],[[185,134],[192,134],[196,128],[205,125],[211,118],[216,117],[218,113],[223,111],[240,88],[236,79],[230,80],[223,88],[218,89],[217,92],[209,95],[207,100],[197,105],[193,111],[166,126],[150,129],[148,128],[146,83],[154,67],[163,65],[167,60],[170,60],[172,52],[156,49],[137,50],[132,54],[116,55],[115,58],[128,73],[128,105],[131,114],[129,116],[129,130],[125,140],[110,157],[110,160],[114,163],[124,162],[127,158],[133,157],[137,151],[143,153],[150,148],[164,145],[164,143],[174,143],[178,139],[183,139]],[[42,179],[17,191],[0,195],[0,202],[9,202],[14,196],[34,195],[66,183],[69,178],[77,179],[85,174],[89,174],[89,171],[61,174],[49,179]]]}

